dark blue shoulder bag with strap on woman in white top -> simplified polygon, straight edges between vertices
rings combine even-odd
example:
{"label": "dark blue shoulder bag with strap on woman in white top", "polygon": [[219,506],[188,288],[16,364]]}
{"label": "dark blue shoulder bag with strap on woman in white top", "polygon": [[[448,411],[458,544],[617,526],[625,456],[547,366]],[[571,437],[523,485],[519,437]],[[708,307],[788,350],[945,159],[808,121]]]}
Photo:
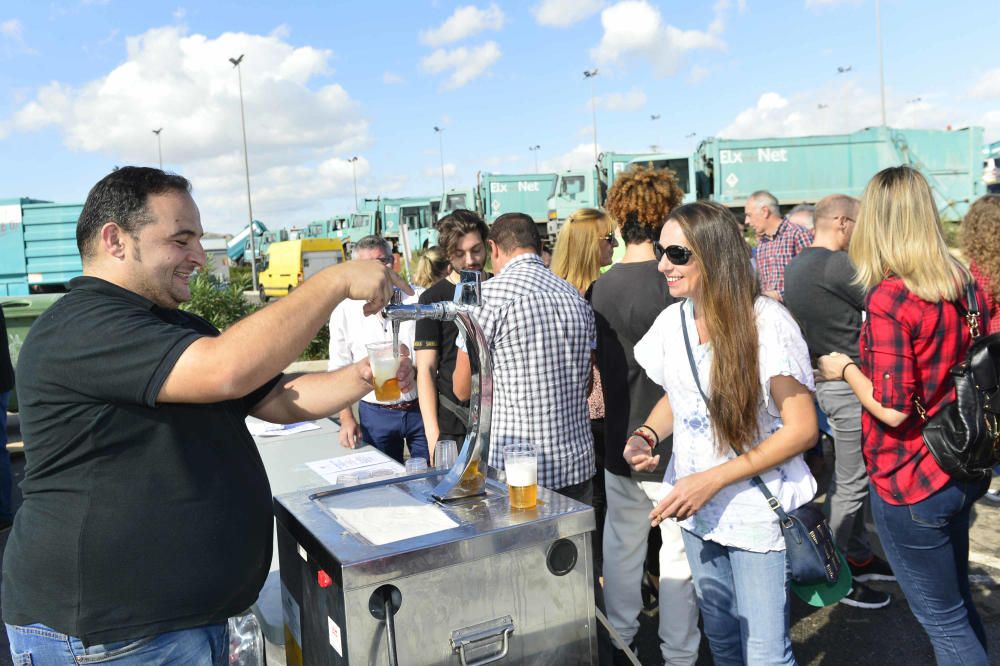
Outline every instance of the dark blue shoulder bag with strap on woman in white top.
{"label": "dark blue shoulder bag with strap on woman in white top", "polygon": [[[701,399],[708,406],[708,398],[701,389],[698,378],[698,366],[691,352],[691,339],[687,332],[687,317],[684,306],[681,306],[681,328],[684,331],[684,346],[687,348],[688,362],[691,364],[691,374],[698,386]],[[841,559],[837,546],[833,542],[830,525],[823,513],[812,504],[800,506],[793,511],[781,508],[781,502],[771,494],[764,481],[759,476],[750,479],[767,500],[768,506],[778,516],[781,534],[785,537],[785,553],[792,580],[796,583],[835,583],[840,577]]]}

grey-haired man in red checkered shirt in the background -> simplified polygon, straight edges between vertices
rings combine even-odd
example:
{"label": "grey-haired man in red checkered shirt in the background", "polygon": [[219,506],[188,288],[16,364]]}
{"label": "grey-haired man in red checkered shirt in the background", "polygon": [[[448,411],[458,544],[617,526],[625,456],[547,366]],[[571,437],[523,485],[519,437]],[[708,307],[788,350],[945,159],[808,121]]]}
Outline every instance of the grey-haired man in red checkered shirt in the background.
{"label": "grey-haired man in red checkered shirt in the background", "polygon": [[812,239],[805,229],[781,217],[778,200],[770,192],[754,192],[744,209],[746,223],[757,233],[760,290],[765,296],[780,301],[785,297],[785,266]]}

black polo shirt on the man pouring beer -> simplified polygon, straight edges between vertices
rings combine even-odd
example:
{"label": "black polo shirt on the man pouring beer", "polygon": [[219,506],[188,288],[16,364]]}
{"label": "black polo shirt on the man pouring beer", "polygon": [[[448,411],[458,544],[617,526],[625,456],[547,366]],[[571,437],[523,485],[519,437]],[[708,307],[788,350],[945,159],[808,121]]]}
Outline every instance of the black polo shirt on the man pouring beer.
{"label": "black polo shirt on the man pouring beer", "polygon": [[24,503],[3,619],[86,644],[225,622],[271,563],[271,494],[240,400],[157,404],[205,320],[93,277],[32,325],[18,358]]}

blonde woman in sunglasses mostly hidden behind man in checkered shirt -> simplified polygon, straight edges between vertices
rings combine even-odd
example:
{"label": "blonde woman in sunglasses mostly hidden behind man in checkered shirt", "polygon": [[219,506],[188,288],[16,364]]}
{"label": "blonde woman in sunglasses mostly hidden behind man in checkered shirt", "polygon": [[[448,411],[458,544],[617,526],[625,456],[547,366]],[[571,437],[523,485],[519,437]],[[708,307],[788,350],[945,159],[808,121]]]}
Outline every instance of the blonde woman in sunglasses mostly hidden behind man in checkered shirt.
{"label": "blonde woman in sunglasses mostly hidden behind man in checkered shirt", "polygon": [[[595,208],[580,208],[573,211],[559,235],[552,251],[553,273],[576,287],[581,296],[586,295],[590,285],[601,274],[601,268],[611,265],[611,255],[618,241],[615,240],[615,222],[603,211]],[[601,373],[591,364],[591,390],[587,396],[590,411],[590,429],[594,435],[594,462],[598,474],[594,476],[594,513],[597,529],[593,535],[594,568],[601,575],[604,565],[602,541],[604,538],[604,516],[607,500],[604,494],[604,389]]]}

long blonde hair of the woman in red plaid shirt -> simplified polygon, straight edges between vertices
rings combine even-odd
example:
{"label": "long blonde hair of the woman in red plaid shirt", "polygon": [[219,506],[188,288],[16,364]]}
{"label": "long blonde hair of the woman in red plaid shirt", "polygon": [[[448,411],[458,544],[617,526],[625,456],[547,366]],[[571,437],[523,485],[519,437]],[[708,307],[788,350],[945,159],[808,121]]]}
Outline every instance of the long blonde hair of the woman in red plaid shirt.
{"label": "long blonde hair of the woman in red plaid shirt", "polygon": [[957,299],[969,279],[948,251],[927,180],[907,166],[883,169],[868,182],[849,255],[862,287],[894,275],[931,303]]}

